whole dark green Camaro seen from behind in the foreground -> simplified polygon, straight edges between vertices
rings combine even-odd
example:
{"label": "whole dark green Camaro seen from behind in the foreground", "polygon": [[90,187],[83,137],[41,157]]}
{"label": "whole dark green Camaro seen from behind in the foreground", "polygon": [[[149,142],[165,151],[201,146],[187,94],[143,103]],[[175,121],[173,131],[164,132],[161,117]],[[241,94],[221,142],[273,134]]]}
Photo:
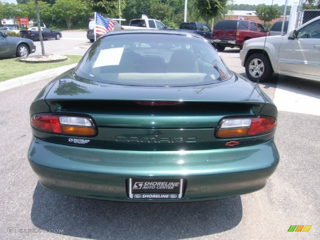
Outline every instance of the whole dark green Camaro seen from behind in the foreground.
{"label": "whole dark green Camaro seen from behind in the foreground", "polygon": [[115,31],[30,107],[29,163],[44,188],[115,201],[183,202],[263,188],[277,109],[202,36]]}

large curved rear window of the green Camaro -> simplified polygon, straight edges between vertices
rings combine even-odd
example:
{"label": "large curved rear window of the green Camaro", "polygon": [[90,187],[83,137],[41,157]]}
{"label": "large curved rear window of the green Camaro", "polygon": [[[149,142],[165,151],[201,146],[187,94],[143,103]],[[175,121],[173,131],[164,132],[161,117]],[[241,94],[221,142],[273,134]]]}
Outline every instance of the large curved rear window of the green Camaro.
{"label": "large curved rear window of the green Camaro", "polygon": [[160,33],[128,33],[99,38],[76,68],[83,78],[109,84],[193,86],[232,74],[203,38]]}

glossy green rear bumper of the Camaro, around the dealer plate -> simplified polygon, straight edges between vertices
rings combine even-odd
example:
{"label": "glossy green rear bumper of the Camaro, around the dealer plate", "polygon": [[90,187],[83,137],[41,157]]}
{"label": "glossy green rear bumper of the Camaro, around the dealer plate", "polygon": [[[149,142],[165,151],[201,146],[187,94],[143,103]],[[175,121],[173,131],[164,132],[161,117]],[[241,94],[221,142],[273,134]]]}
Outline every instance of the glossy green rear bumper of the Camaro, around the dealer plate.
{"label": "glossy green rear bumper of the Camaro, around the dealer plate", "polygon": [[183,202],[238,196],[263,188],[276,170],[273,140],[241,148],[200,151],[119,151],[64,146],[34,138],[29,163],[40,183],[63,194],[115,201],[128,197],[128,179],[184,179]]}

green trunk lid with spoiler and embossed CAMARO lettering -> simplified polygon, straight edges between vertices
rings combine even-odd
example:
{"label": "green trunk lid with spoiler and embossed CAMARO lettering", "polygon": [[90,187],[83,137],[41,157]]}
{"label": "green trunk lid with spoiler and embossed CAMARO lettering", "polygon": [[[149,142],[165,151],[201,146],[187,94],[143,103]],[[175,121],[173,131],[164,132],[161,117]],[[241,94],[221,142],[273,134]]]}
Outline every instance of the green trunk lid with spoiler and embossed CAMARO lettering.
{"label": "green trunk lid with spoiler and embossed CAMARO lettering", "polygon": [[[214,137],[219,121],[226,116],[258,116],[266,103],[255,85],[238,75],[203,86],[135,87],[89,81],[72,70],[53,84],[45,100],[55,114],[92,118],[98,135],[86,138],[90,141],[85,146],[119,150],[225,147],[225,141]],[[77,145],[69,138],[51,140]]]}

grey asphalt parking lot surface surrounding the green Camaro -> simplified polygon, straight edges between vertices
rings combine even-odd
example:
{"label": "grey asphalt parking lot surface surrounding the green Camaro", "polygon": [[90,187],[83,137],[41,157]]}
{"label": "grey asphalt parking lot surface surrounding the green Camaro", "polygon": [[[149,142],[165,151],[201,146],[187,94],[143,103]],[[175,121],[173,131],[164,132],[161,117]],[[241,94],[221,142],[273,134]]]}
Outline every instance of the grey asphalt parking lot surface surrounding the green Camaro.
{"label": "grey asphalt parking lot surface surrounding the green Camaro", "polygon": [[[57,41],[45,41],[48,54],[81,55],[79,46],[90,44],[85,32],[63,33]],[[220,55],[245,76],[238,49]],[[319,239],[320,82],[274,74],[260,84],[279,111],[280,164],[265,188],[211,201],[146,204],[66,196],[39,184],[27,160],[28,108],[51,79],[0,92],[0,239]],[[291,225],[311,228],[288,232]]]}

